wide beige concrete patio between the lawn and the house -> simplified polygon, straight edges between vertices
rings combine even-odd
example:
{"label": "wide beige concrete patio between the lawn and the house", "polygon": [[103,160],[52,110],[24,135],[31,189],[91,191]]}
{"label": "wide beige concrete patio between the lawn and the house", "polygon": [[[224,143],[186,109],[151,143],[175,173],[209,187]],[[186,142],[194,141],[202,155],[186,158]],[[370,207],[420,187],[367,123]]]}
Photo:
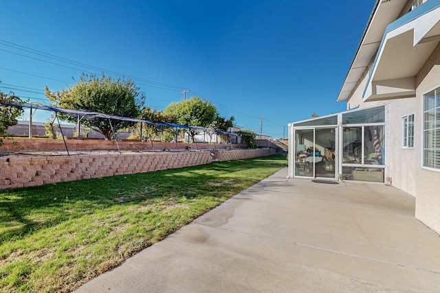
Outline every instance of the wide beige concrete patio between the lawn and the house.
{"label": "wide beige concrete patio between the lawn and the house", "polygon": [[415,198],[289,179],[234,196],[78,292],[440,292],[440,237]]}

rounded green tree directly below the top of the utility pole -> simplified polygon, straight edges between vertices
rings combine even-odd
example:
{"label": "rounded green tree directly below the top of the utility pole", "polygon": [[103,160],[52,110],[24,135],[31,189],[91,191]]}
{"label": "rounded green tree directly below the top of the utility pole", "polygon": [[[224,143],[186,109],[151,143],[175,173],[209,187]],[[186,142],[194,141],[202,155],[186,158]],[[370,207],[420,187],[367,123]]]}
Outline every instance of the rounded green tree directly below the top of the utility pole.
{"label": "rounded green tree directly below the top of the utility pole", "polygon": [[[181,102],[173,102],[165,108],[165,114],[170,117],[176,117],[178,124],[186,126],[200,126],[208,127],[216,117],[219,117],[217,107],[208,102],[208,99],[203,100],[200,97],[191,97]],[[192,142],[195,141],[195,132],[190,130]]]}

